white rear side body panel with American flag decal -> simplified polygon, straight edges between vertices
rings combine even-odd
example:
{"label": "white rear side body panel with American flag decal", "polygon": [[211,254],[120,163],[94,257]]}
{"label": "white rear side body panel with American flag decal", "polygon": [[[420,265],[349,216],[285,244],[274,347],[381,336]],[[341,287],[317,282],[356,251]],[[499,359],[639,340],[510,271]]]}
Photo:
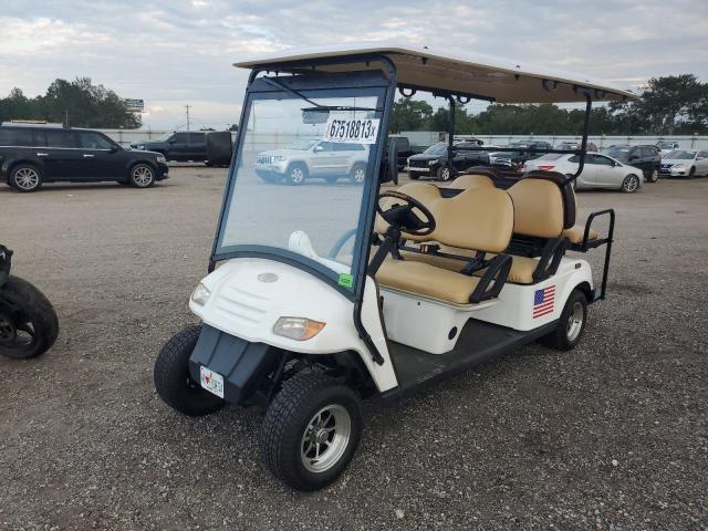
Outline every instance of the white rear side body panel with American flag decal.
{"label": "white rear side body panel with American flag decal", "polygon": [[569,295],[583,282],[594,289],[590,264],[563,257],[556,273],[543,282],[529,285],[507,282],[498,303],[475,312],[475,319],[519,331],[538,329],[561,316]]}

